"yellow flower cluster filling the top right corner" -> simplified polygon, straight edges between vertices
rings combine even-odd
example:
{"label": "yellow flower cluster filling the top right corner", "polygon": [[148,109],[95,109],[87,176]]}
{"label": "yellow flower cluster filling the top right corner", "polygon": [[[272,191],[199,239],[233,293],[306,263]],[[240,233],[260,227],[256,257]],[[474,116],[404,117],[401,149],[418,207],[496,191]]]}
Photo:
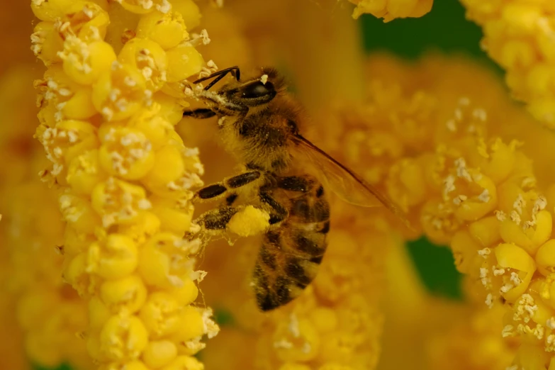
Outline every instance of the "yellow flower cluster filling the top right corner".
{"label": "yellow flower cluster filling the top right corner", "polygon": [[482,47],[506,72],[512,95],[555,127],[555,4],[550,0],[462,0],[483,28]]}

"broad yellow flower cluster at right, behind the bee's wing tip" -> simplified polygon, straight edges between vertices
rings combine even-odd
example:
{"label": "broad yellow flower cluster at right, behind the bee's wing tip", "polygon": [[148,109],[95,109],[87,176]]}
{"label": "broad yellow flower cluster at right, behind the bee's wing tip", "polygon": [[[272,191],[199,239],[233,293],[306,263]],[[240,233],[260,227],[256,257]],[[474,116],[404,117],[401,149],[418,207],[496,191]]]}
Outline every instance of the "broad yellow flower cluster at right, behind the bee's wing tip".
{"label": "broad yellow flower cluster at right, behind the bee's wing tip", "polygon": [[[444,82],[441,70],[463,73]],[[499,335],[526,343],[515,366],[544,369],[534,361],[549,364],[554,351],[553,188],[538,185],[522,143],[509,139],[519,136],[515,126],[526,127],[522,115],[494,89],[482,99],[486,91],[468,86],[469,72],[491,78],[478,67],[441,57],[407,67],[377,57],[369,71],[366,103],[340,111],[330,127],[340,120],[343,133],[323,140],[349,148],[337,155],[395,199],[430,240],[452,248],[485,305],[508,309]],[[505,128],[495,125],[500,118]]]}

